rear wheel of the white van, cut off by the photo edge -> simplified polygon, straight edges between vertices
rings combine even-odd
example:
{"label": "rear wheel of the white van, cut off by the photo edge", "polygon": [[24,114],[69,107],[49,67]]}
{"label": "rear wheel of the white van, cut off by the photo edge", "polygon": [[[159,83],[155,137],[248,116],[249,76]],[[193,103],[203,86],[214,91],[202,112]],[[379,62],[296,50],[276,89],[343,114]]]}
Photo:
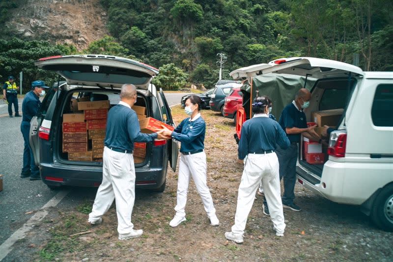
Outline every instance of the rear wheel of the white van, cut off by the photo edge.
{"label": "rear wheel of the white van, cut off by the photo edge", "polygon": [[374,201],[371,218],[382,230],[393,232],[393,184],[382,188]]}

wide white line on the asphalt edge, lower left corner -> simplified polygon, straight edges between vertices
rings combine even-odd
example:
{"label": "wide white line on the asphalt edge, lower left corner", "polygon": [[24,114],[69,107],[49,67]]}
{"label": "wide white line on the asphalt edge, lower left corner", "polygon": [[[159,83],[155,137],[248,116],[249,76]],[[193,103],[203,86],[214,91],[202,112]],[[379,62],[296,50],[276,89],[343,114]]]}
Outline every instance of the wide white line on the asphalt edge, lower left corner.
{"label": "wide white line on the asphalt edge, lower left corner", "polygon": [[60,191],[51,200],[48,201],[40,210],[38,210],[30,219],[17,231],[14,232],[7,240],[0,246],[0,261],[3,260],[9,252],[13,249],[13,244],[16,241],[23,239],[27,233],[32,229],[35,223],[41,221],[48,213],[48,208],[56,207],[58,203],[70,192],[71,190]]}

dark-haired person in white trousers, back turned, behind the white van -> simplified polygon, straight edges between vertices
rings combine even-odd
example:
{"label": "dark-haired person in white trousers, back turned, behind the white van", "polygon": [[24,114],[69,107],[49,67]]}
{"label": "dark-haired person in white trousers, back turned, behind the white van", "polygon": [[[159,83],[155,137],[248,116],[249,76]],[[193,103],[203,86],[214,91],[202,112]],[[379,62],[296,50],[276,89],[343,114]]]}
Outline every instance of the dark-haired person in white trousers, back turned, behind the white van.
{"label": "dark-haired person in white trousers, back turned, behind the white van", "polygon": [[228,240],[243,242],[247,217],[253,207],[255,190],[262,181],[265,197],[271,207],[271,219],[277,236],[283,236],[285,223],[281,203],[279,160],[276,144],[289,146],[289,140],[279,123],[269,118],[270,99],[257,97],[253,101],[253,118],[244,122],[239,141],[238,157],[244,159],[244,171],[239,185],[235,224],[225,233]]}

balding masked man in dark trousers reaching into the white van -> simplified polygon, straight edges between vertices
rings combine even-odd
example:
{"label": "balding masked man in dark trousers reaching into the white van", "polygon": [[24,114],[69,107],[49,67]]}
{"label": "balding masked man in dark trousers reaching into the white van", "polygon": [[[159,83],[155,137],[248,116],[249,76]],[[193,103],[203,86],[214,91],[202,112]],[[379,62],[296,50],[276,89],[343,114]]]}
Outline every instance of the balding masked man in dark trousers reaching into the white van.
{"label": "balding masked man in dark trousers reaching into the white van", "polygon": [[[298,143],[300,142],[300,135],[319,140],[320,136],[313,131],[316,126],[307,127],[306,115],[303,112],[304,108],[309,107],[309,100],[311,93],[306,88],[300,89],[295,100],[282,110],[279,124],[285,131],[291,145],[286,148],[278,147],[276,150],[277,157],[280,162],[280,179],[284,179],[284,193],[282,196],[282,205],[294,211],[302,210],[294,203],[295,199],[295,183],[296,183],[296,161],[298,158]],[[263,213],[270,215],[269,204],[264,200]]]}

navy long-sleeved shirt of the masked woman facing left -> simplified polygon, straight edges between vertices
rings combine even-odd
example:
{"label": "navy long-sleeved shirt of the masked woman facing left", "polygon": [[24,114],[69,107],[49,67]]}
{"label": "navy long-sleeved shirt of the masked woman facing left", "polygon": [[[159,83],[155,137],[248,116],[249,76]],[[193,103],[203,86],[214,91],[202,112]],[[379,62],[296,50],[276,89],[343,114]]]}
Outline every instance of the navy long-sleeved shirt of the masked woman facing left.
{"label": "navy long-sleeved shirt of the masked woman facing left", "polygon": [[181,142],[180,152],[195,152],[205,148],[206,124],[201,116],[190,121],[190,117],[181,123],[172,132],[172,137]]}

